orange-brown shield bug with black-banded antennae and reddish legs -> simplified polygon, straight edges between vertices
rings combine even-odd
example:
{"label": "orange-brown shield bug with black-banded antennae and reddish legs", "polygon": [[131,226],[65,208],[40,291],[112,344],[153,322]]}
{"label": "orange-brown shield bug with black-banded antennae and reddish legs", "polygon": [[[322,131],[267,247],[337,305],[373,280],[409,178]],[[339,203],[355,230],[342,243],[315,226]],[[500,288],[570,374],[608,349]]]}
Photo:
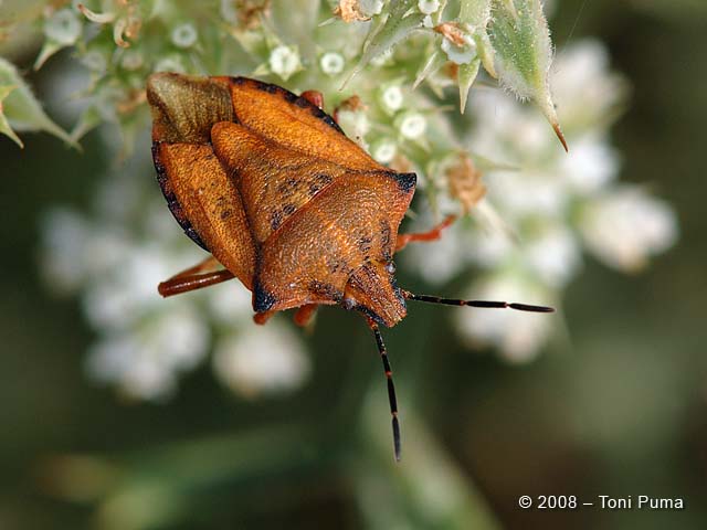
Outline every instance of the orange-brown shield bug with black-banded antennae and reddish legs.
{"label": "orange-brown shield bug with black-banded antennae and reddish legs", "polygon": [[245,77],[150,76],[152,158],[172,214],[211,254],[159,285],[171,296],[233,277],[253,294],[254,319],[297,309],[305,325],[320,305],[359,311],[373,332],[392,414],[400,426],[392,371],[379,326],[407,315],[407,301],[552,309],[505,301],[415,295],[398,287],[393,256],[430,232],[398,234],[415,173],[376,162],[321,110],[321,96],[297,96]]}

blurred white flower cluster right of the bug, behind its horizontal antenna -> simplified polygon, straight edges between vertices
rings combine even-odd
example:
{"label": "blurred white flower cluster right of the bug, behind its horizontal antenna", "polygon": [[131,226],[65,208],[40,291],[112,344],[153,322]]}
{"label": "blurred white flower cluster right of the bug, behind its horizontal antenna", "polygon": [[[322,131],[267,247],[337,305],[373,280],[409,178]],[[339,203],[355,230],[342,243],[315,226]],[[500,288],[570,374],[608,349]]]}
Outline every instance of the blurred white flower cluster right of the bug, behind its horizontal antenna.
{"label": "blurred white flower cluster right of the bug, behind its horizontal antenna", "polygon": [[[474,94],[477,120],[468,146],[496,163],[484,177],[488,193],[476,222],[460,223],[443,241],[411,251],[410,261],[428,280],[445,282],[475,267],[482,274],[468,298],[558,305],[580,271],[583,250],[631,273],[675,243],[671,208],[639,184],[616,182],[621,160],[608,129],[626,84],[609,71],[605,49],[583,41],[563,50],[552,86],[569,153],[556,149],[546,124],[528,107],[496,91]],[[496,346],[513,361],[535,356],[553,331],[546,318],[511,311],[458,311],[455,321],[469,343]]]}

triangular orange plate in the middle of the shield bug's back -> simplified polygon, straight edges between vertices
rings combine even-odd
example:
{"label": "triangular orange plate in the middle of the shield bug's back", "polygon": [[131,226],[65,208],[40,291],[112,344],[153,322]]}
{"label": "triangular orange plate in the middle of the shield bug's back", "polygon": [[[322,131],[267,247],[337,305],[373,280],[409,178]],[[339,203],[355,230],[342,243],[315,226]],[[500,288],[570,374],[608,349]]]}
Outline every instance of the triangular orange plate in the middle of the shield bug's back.
{"label": "triangular orange plate in the middle of the shield bug's back", "polygon": [[264,243],[316,194],[351,172],[287,149],[240,124],[214,125],[211,140],[238,184],[257,243]]}

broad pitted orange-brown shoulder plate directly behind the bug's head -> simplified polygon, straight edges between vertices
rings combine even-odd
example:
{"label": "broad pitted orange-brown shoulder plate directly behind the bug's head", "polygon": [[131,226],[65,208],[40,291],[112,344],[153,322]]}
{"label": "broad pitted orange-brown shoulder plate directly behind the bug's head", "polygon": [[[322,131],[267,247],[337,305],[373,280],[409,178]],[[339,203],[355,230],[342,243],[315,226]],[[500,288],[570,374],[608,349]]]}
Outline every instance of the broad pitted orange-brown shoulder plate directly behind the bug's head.
{"label": "broad pitted orange-brown shoulder plate directly behind the bug's head", "polygon": [[255,310],[338,303],[357,269],[392,258],[414,190],[400,179],[413,178],[362,172],[305,204],[261,247]]}

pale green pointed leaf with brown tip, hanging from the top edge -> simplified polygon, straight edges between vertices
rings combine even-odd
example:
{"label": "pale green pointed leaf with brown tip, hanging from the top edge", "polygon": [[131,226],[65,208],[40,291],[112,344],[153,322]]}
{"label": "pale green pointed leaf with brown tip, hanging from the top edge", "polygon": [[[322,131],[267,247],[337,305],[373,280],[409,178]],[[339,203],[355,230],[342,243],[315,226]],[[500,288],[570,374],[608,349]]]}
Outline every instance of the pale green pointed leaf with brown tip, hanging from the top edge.
{"label": "pale green pointed leaf with brown tip, hanging from the top edge", "polygon": [[550,93],[552,43],[540,0],[492,0],[492,14],[498,80],[540,107],[567,150]]}

